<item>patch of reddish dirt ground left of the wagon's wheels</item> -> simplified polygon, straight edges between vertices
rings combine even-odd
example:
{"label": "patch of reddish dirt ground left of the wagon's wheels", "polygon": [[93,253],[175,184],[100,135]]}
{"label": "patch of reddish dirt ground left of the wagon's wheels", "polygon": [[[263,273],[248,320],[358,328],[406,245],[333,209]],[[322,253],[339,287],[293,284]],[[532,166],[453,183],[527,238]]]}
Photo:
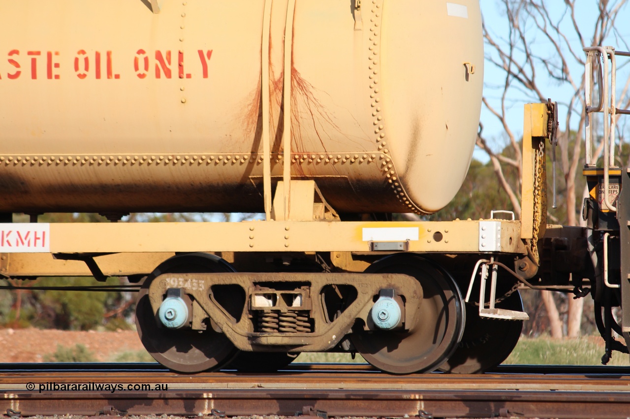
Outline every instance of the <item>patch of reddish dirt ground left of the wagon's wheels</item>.
{"label": "patch of reddish dirt ground left of the wagon's wheels", "polygon": [[83,344],[94,357],[107,362],[122,352],[144,350],[135,330],[67,332],[63,330],[0,329],[0,362],[43,362],[57,345]]}

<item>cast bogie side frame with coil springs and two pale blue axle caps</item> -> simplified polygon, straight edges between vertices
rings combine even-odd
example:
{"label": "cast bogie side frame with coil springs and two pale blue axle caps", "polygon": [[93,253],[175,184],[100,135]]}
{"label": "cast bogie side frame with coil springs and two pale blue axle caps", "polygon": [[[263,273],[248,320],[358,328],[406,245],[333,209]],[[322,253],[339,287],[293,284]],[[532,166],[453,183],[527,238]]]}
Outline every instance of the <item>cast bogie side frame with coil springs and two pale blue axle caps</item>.
{"label": "cast bogie side frame with coil springs and two pale blue axle caps", "polygon": [[163,274],[149,287],[159,327],[212,328],[258,352],[332,349],[355,325],[410,330],[422,298],[420,283],[404,274]]}

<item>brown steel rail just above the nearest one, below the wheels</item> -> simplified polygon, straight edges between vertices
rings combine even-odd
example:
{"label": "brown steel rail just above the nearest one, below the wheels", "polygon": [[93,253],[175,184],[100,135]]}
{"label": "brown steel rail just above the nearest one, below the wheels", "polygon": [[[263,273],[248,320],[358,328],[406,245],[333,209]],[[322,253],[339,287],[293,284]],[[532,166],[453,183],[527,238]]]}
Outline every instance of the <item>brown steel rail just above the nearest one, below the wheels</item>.
{"label": "brown steel rail just above the nearest one, below the wheels", "polygon": [[[166,383],[169,389],[266,388],[284,389],[297,386],[309,389],[501,389],[501,390],[562,390],[562,391],[630,391],[630,376],[621,374],[410,374],[392,376],[381,372],[309,371],[275,374],[213,372],[195,375],[172,372],[53,372],[0,374],[0,391],[25,389],[26,383],[35,388],[46,383],[106,383],[146,384]],[[45,388],[49,391],[49,388]]]}

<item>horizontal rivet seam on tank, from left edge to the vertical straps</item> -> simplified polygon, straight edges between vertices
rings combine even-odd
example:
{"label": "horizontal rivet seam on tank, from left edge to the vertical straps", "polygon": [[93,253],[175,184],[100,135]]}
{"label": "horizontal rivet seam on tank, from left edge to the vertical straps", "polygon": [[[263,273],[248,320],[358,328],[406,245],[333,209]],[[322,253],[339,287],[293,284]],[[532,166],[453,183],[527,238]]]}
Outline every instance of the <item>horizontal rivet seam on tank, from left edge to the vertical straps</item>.
{"label": "horizontal rivet seam on tank, from left edge to the vertical straps", "polygon": [[[272,154],[279,163],[282,155]],[[1,155],[0,164],[20,166],[51,165],[244,165],[262,164],[258,154],[142,154],[142,155]]]}

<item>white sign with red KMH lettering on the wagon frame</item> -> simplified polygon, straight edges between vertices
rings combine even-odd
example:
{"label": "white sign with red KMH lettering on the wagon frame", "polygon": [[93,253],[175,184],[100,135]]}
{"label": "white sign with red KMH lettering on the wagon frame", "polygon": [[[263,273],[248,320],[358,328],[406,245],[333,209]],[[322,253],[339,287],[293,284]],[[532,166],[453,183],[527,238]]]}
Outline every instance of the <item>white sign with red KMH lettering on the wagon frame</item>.
{"label": "white sign with red KMH lettering on the wagon frame", "polygon": [[50,224],[0,223],[0,252],[50,252]]}

